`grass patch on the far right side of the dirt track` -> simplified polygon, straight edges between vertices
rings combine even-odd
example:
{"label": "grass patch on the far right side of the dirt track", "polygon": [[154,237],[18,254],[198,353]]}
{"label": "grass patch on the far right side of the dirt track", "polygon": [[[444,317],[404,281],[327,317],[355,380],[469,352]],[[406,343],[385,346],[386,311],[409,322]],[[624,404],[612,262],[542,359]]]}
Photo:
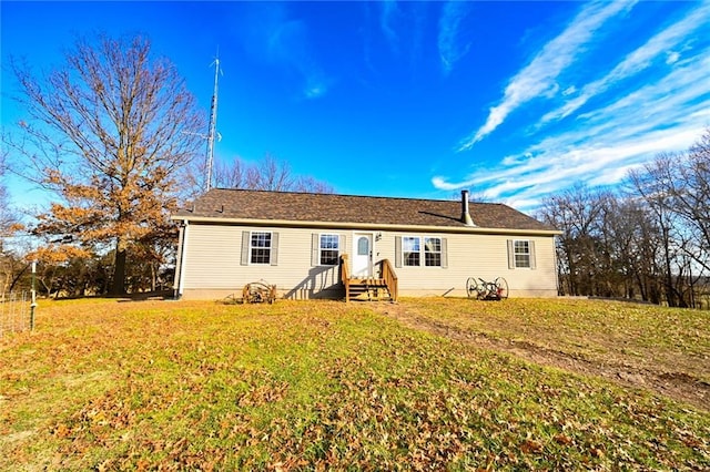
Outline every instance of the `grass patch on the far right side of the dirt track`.
{"label": "grass patch on the far right side of the dirt track", "polygon": [[[676,372],[710,383],[710,312],[586,299],[405,299],[410,317],[524,342],[599,365]],[[710,398],[708,399],[710,402]]]}

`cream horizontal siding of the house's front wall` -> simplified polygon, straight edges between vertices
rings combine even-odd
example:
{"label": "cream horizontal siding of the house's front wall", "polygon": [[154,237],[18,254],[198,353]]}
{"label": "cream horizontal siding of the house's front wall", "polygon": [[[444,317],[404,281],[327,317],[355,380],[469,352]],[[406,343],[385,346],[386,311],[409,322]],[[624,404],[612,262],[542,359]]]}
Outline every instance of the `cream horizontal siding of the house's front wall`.
{"label": "cream horizontal siding of the house's front wall", "polygon": [[[276,265],[242,265],[242,234],[271,230],[278,234]],[[190,224],[183,233],[181,295],[184,298],[241,297],[244,285],[263,280],[275,284],[280,297],[342,298],[337,266],[312,266],[313,234],[341,235],[341,250],[352,252],[351,229],[244,227]],[[375,264],[389,259],[395,266],[397,236],[435,236],[446,239],[446,267],[395,267],[399,296],[466,296],[468,277],[493,280],[505,277],[511,297],[555,297],[557,279],[551,236],[366,232],[376,235]],[[508,239],[535,244],[535,268],[508,267]]]}

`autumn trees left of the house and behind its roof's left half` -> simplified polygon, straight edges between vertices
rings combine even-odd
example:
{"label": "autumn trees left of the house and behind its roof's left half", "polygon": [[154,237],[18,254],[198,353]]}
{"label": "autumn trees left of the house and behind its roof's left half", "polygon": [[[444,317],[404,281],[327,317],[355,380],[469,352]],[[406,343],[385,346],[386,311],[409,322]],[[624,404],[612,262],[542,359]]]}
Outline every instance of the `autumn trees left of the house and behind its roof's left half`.
{"label": "autumn trees left of the house and behind its roof's left half", "polygon": [[[79,38],[60,65],[36,73],[12,58],[23,117],[2,130],[0,177],[51,195],[28,218],[0,186],[4,294],[29,285],[49,296],[123,295],[172,283],[176,226],[170,215],[205,187],[206,116],[176,66],[145,37]],[[217,162],[216,186],[332,192],[266,155]],[[14,244],[8,244],[14,242]]]}

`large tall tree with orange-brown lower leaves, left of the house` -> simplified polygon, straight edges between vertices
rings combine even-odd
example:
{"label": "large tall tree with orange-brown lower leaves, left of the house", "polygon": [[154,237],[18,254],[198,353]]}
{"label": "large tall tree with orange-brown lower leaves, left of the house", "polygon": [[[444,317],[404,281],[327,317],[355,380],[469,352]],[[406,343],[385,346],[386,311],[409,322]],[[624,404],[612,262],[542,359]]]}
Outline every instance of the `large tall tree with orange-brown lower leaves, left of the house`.
{"label": "large tall tree with orange-brown lower leaves, left of the house", "polygon": [[169,214],[203,144],[195,101],[141,37],[80,39],[40,78],[12,68],[28,119],[10,144],[23,153],[24,175],[58,197],[34,233],[53,236],[48,250],[72,246],[74,256],[111,248],[111,291],[122,294],[128,254],[174,237]]}

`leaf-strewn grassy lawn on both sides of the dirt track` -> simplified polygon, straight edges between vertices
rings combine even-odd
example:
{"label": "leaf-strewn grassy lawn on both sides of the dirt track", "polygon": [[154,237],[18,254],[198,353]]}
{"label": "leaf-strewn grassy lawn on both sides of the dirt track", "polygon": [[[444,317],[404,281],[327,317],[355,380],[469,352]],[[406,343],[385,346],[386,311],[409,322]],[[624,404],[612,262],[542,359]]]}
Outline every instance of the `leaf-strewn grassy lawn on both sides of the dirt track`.
{"label": "leaf-strewn grassy lawn on both sides of the dirt track", "polygon": [[[400,305],[708,377],[707,312]],[[34,332],[0,338],[0,470],[44,469],[708,470],[710,412],[406,328],[367,304],[42,301]]]}

